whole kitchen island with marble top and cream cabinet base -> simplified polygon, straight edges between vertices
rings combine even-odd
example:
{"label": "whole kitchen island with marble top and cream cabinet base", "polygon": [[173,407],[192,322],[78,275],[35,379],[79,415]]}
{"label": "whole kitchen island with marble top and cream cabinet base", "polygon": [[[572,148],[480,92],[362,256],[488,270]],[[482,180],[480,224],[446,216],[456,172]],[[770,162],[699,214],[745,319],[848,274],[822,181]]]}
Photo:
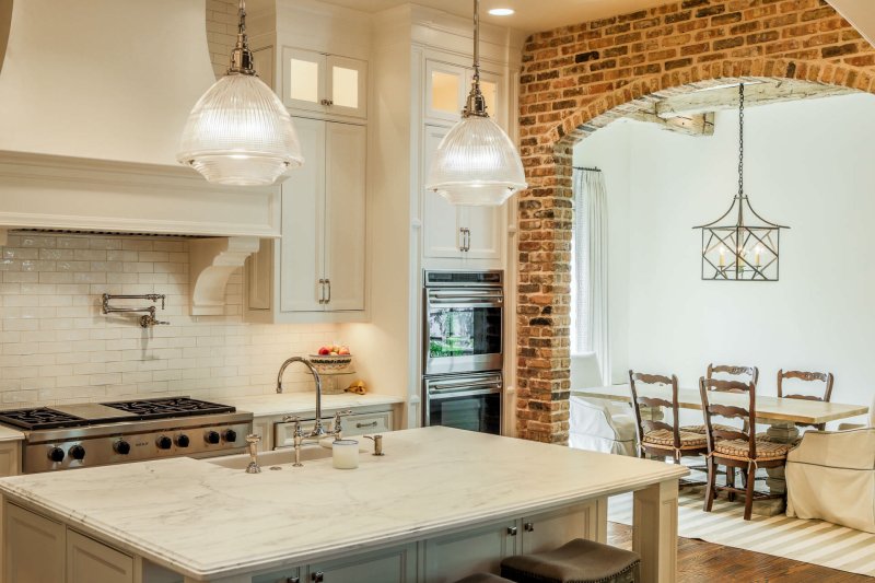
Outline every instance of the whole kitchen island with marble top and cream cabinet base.
{"label": "whole kitchen island with marble top and cream cabinet base", "polygon": [[354,470],[174,458],[5,478],[5,581],[452,582],[604,541],[606,497],[628,491],[643,580],[675,580],[686,469],[439,427],[387,433],[384,448]]}

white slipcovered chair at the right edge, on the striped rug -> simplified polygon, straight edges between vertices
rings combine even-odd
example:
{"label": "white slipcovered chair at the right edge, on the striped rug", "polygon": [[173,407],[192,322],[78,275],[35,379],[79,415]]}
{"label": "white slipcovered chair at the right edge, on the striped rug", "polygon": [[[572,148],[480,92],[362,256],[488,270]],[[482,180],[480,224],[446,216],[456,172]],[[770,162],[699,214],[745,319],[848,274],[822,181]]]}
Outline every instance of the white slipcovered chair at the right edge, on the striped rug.
{"label": "white slipcovered chair at the right edge, on the striped rug", "polygon": [[875,533],[875,428],[805,432],[785,476],[788,516]]}

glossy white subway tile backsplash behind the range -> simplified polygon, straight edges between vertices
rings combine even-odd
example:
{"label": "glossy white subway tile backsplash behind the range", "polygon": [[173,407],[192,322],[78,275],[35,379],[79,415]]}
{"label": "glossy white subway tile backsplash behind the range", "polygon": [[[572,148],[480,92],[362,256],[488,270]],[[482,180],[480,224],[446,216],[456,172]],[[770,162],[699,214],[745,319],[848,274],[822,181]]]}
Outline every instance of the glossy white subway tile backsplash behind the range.
{"label": "glossy white subway tile backsplash behind the range", "polygon": [[[13,233],[0,249],[0,407],[268,394],[284,359],[337,339],[332,324],[244,323],[242,271],[225,315],[190,316],[185,240]],[[171,325],[104,315],[103,293],[163,293]],[[289,369],[283,386],[313,383]]]}

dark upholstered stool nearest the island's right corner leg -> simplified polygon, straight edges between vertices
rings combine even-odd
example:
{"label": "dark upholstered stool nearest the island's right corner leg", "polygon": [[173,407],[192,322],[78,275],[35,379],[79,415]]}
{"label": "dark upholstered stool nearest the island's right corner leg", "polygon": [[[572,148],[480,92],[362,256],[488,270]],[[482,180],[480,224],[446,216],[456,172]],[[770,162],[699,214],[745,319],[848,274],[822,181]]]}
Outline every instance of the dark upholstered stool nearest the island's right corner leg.
{"label": "dark upholstered stool nearest the island's right corner leg", "polygon": [[637,552],[576,538],[556,550],[508,557],[501,575],[516,583],[632,583],[640,565]]}

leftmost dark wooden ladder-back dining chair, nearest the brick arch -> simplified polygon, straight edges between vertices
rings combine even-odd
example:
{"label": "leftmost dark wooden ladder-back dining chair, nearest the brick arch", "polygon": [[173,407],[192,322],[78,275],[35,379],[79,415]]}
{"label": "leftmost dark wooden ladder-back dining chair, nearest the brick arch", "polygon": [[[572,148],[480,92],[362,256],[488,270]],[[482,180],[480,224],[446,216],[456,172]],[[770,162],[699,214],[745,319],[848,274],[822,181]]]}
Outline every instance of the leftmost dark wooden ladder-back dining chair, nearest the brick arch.
{"label": "leftmost dark wooden ladder-back dining chair, nearest the brick arch", "polygon": [[[646,394],[639,389],[645,388]],[[629,388],[632,393],[632,410],[635,415],[638,433],[638,451],[640,457],[648,454],[658,457],[672,457],[680,464],[682,457],[701,456],[708,453],[708,443],[702,433],[687,431],[680,427],[677,399],[677,376],[643,374],[629,371]],[[645,417],[642,408],[649,409]],[[654,419],[653,412],[658,410],[662,419]],[[666,411],[667,410],[667,411]],[[670,415],[670,423],[665,422],[665,413]],[[681,480],[681,486],[701,486],[701,481]]]}

